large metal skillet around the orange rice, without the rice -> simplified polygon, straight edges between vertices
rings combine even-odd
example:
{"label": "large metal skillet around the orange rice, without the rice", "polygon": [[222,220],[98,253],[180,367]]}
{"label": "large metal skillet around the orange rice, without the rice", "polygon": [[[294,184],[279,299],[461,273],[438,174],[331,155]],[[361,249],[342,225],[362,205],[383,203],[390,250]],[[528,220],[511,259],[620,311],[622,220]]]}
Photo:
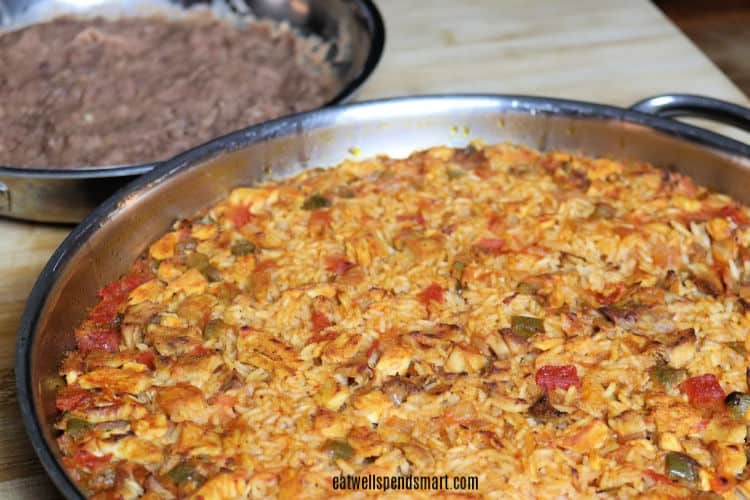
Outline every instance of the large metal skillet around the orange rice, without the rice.
{"label": "large metal skillet around the orange rice, without the rice", "polygon": [[[750,111],[703,98],[660,97],[638,107],[750,126]],[[18,401],[32,446],[60,491],[81,498],[60,466],[53,429],[57,369],[74,347],[73,328],[97,289],[125,272],[175,218],[221,200],[233,187],[335,165],[352,151],[406,155],[475,138],[647,161],[750,203],[750,146],[671,119],[585,102],[395,98],[295,115],[216,139],[165,162],[94,210],[60,245],[29,296],[16,352]]]}

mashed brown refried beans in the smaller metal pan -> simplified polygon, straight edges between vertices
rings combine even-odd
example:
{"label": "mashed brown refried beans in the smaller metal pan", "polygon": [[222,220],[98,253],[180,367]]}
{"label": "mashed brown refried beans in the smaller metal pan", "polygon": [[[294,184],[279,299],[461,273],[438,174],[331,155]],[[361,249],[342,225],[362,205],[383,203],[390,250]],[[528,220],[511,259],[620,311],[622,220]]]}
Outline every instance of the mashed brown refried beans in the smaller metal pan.
{"label": "mashed brown refried beans in the smaller metal pan", "polygon": [[278,25],[208,13],[60,17],[0,34],[0,165],[164,160],[316,108],[336,91],[317,52]]}

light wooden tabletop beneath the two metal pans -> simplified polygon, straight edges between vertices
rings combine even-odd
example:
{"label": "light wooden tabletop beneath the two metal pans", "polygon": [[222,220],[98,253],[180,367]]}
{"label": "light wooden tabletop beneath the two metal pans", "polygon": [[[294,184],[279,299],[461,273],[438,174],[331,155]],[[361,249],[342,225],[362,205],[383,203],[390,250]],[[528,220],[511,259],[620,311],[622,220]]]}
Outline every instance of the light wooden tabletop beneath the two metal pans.
{"label": "light wooden tabletop beneath the two metal pans", "polygon": [[[499,92],[628,105],[747,98],[646,0],[379,0],[386,52],[359,97]],[[575,7],[573,7],[575,5]],[[70,230],[0,221],[0,498],[54,498],[20,422],[13,352],[37,274]]]}

